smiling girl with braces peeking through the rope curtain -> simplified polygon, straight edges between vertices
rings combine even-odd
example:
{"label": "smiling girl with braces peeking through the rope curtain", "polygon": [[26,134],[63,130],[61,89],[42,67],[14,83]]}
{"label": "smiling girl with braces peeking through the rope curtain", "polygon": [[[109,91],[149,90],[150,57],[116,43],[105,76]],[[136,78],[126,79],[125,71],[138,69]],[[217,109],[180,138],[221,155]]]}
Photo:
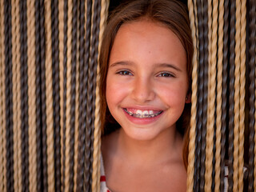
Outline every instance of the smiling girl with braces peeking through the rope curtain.
{"label": "smiling girl with braces peeking through the rope curtain", "polygon": [[182,3],[129,1],[110,15],[99,60],[101,191],[186,191],[192,56]]}

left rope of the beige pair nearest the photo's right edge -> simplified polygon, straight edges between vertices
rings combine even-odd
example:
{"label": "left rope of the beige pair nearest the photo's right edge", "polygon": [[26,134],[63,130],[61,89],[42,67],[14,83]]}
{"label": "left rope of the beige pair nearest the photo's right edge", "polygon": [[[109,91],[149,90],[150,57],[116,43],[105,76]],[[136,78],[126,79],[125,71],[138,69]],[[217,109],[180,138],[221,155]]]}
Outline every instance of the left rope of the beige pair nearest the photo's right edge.
{"label": "left rope of the beige pair nearest the photo's right edge", "polygon": [[240,98],[240,40],[241,40],[241,2],[236,1],[236,22],[235,22],[235,69],[234,69],[234,175],[233,190],[238,191],[238,146],[239,146],[239,98]]}

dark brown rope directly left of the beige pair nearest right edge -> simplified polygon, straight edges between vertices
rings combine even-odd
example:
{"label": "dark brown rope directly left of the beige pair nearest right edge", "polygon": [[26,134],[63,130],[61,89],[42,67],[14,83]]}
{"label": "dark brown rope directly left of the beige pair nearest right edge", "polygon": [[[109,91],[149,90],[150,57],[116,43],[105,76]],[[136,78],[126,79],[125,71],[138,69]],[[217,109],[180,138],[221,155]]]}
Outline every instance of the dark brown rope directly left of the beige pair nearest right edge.
{"label": "dark brown rope directly left of the beige pair nearest right edge", "polygon": [[235,2],[230,2],[230,98],[229,98],[229,188],[228,190],[233,191],[233,162],[234,162],[234,46],[235,46]]}

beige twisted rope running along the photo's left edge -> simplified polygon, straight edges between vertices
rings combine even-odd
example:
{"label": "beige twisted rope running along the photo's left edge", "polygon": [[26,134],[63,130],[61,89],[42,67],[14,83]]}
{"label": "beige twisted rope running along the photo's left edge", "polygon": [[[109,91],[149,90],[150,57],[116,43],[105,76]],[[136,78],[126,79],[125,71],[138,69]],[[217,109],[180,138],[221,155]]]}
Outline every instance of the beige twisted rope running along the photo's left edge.
{"label": "beige twisted rope running along the photo's left edge", "polygon": [[6,192],[6,95],[4,5],[0,0],[0,190]]}

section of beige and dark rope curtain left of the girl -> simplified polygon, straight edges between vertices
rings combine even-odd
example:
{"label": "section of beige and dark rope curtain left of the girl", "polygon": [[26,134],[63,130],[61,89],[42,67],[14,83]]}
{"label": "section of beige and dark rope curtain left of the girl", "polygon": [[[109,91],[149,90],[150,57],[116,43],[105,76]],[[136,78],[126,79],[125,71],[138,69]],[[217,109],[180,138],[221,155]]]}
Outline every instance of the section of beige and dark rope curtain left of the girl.
{"label": "section of beige and dark rope curtain left of the girl", "polygon": [[99,191],[108,4],[0,1],[0,191]]}

